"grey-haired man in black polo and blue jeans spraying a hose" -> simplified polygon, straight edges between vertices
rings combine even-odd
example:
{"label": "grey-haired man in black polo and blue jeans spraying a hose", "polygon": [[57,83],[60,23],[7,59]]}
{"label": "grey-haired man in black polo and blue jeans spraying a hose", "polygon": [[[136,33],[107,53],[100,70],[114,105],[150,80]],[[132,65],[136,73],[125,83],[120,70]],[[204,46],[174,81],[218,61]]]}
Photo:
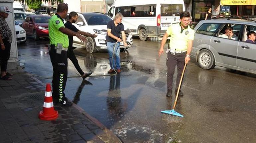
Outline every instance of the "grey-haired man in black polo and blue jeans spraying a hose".
{"label": "grey-haired man in black polo and blue jeans spraying a hose", "polygon": [[[121,66],[120,66],[120,42],[121,39],[119,38],[119,35],[122,34],[124,46],[127,47],[126,43],[126,36],[124,33],[124,25],[122,22],[123,15],[118,13],[114,17],[114,20],[111,20],[107,24],[107,35],[106,35],[106,41],[107,41],[107,49],[109,54],[109,63],[110,63],[110,70],[108,73],[114,72],[114,69],[116,69],[117,73],[121,72]],[[117,42],[117,44],[116,44]],[[114,47],[116,45],[115,51]],[[115,58],[112,59],[113,53],[115,54]]]}

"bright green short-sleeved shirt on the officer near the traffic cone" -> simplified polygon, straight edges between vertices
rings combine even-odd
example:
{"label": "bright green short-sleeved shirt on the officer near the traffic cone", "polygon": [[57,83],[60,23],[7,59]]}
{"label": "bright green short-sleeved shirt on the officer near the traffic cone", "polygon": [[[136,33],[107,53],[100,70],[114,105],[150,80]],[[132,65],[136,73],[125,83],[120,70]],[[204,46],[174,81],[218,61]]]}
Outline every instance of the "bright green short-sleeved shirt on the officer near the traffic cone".
{"label": "bright green short-sleeved shirt on the officer near the traffic cone", "polygon": [[50,43],[55,46],[57,46],[58,43],[61,43],[64,48],[67,48],[69,45],[68,37],[66,34],[59,31],[61,27],[65,27],[63,19],[58,14],[55,14],[49,20]]}

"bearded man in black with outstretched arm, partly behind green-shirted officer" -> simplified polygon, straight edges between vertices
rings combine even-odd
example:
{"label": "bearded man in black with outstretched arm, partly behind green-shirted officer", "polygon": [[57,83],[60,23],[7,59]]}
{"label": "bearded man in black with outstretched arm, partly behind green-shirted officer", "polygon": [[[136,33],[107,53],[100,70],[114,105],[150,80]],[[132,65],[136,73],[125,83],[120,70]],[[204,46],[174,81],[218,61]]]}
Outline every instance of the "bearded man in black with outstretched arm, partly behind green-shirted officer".
{"label": "bearded man in black with outstretched arm, partly behind green-shirted officer", "polygon": [[[69,15],[68,15],[68,20],[67,22],[64,24],[66,28],[74,31],[74,32],[77,32],[83,36],[89,36],[89,37],[97,37],[96,34],[91,34],[91,33],[88,33],[88,32],[84,32],[84,31],[80,31],[78,30],[74,25],[72,25],[72,23],[75,23],[75,21],[77,20],[77,13],[76,12],[70,12]],[[73,36],[68,36],[68,41],[69,41],[69,46],[68,46],[68,50],[67,50],[67,57],[72,61],[72,63],[74,64],[76,70],[79,72],[79,74],[82,76],[83,79],[85,79],[86,77],[88,77],[89,75],[92,74],[91,73],[84,73],[82,71],[82,69],[80,68],[79,64],[78,64],[78,61],[75,57],[75,54],[73,52],[73,49],[75,49],[75,47],[73,47]]]}

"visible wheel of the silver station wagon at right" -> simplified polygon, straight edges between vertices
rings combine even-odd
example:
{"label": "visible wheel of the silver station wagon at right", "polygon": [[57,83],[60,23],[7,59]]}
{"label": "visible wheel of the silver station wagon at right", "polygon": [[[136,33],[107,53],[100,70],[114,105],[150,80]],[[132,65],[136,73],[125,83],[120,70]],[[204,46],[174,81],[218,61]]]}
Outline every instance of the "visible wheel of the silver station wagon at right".
{"label": "visible wheel of the silver station wagon at right", "polygon": [[214,57],[209,50],[203,49],[197,56],[198,65],[203,69],[211,69],[215,66]]}

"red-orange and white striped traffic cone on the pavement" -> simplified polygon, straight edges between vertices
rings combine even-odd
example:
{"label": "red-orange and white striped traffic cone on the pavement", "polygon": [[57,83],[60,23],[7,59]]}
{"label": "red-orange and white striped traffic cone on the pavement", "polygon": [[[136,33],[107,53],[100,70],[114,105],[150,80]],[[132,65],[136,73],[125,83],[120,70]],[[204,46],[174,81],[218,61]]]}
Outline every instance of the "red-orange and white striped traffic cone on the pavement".
{"label": "red-orange and white striped traffic cone on the pavement", "polygon": [[52,89],[51,85],[46,85],[46,92],[45,92],[45,101],[44,101],[44,107],[43,110],[39,113],[39,118],[41,120],[56,120],[58,118],[59,114],[58,111],[54,110],[53,107],[53,97],[52,97]]}

